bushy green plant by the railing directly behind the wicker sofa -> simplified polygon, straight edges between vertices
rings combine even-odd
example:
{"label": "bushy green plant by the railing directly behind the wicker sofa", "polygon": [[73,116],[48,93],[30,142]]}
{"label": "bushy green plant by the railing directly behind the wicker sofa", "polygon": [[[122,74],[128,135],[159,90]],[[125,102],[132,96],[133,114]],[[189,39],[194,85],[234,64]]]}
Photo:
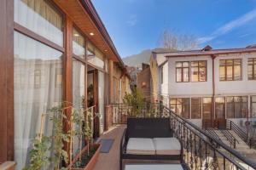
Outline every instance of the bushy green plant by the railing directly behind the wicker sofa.
{"label": "bushy green plant by the railing directly behind the wicker sofa", "polygon": [[129,113],[132,114],[132,116],[138,116],[141,114],[144,106],[144,99],[143,94],[137,88],[134,88],[131,91],[131,94],[125,93],[123,102],[125,105],[131,107],[131,111],[129,111]]}

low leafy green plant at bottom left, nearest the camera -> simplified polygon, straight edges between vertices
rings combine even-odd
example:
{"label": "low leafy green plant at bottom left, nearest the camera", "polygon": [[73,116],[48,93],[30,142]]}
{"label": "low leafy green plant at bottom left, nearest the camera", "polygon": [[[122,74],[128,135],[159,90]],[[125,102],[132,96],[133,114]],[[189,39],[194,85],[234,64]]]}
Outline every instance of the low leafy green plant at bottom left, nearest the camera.
{"label": "low leafy green plant at bottom left, nearest the camera", "polygon": [[49,137],[42,136],[42,139],[36,137],[33,139],[33,148],[30,150],[30,164],[24,167],[23,170],[39,170],[41,167],[49,165]]}

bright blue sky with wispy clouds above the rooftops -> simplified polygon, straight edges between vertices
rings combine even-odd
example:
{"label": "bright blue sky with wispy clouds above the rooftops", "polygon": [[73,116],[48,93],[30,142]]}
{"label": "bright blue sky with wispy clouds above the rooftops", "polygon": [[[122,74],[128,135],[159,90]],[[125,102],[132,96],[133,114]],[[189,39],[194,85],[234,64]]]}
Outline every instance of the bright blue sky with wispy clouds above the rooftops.
{"label": "bright blue sky with wispy clouds above the rooftops", "polygon": [[160,46],[165,29],[197,37],[200,48],[256,43],[256,0],[92,0],[121,57]]}

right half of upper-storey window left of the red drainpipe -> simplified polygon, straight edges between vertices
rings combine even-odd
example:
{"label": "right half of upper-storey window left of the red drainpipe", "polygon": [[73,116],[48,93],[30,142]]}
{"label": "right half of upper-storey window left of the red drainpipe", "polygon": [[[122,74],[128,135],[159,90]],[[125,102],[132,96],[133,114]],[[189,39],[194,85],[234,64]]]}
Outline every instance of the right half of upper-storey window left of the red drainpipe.
{"label": "right half of upper-storey window left of the red drainpipe", "polygon": [[191,61],[191,82],[207,81],[207,61]]}

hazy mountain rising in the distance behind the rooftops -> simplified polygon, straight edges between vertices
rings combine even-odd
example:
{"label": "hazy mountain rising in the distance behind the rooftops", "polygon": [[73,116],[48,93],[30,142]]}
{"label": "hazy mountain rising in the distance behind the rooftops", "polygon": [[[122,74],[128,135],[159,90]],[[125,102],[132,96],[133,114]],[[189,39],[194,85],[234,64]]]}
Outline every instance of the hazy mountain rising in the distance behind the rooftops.
{"label": "hazy mountain rising in the distance behind the rooftops", "polygon": [[143,50],[140,54],[133,54],[123,58],[125,65],[142,67],[142,63],[149,64],[151,49]]}

